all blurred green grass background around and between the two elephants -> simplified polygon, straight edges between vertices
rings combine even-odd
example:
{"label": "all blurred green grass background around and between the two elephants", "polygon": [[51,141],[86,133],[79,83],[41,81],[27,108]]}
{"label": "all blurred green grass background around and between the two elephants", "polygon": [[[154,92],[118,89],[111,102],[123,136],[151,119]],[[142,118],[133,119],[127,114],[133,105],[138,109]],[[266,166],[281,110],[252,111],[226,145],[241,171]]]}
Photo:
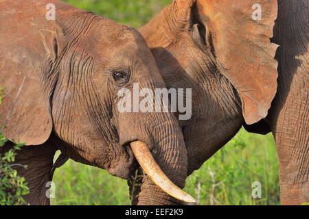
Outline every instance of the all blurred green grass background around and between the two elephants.
{"label": "all blurred green grass background around and between the two elephants", "polygon": [[[172,0],[66,0],[84,10],[139,29]],[[252,183],[262,197],[252,198]],[[99,168],[69,160],[54,175],[52,205],[130,205],[128,185]],[[199,205],[279,205],[279,170],[273,135],[244,129],[187,178],[184,189]]]}

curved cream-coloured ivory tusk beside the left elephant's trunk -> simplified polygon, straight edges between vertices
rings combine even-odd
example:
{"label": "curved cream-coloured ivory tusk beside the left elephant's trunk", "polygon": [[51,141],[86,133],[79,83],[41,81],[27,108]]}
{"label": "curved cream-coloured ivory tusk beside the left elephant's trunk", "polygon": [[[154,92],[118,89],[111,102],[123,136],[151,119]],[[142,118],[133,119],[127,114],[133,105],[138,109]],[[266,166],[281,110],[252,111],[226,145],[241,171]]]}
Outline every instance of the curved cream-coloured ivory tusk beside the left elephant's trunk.
{"label": "curved cream-coloured ivory tusk beside the left elephant's trunk", "polygon": [[146,144],[140,141],[135,141],[131,142],[130,146],[141,168],[143,168],[148,177],[150,177],[150,179],[152,179],[152,181],[159,186],[161,190],[170,196],[179,199],[180,201],[184,201],[186,203],[196,203],[196,200],[192,198],[190,194],[187,194],[181,190],[181,188],[168,179],[155,161],[155,158],[152,156],[152,153]]}

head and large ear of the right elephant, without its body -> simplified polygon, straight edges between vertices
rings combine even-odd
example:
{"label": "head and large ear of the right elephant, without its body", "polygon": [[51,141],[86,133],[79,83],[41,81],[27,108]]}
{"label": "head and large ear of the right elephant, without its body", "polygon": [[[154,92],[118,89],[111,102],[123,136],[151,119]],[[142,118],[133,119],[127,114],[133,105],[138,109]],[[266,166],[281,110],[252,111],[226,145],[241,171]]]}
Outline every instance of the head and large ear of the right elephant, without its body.
{"label": "head and large ear of the right elephant, without its body", "polygon": [[139,31],[168,88],[192,88],[180,123],[188,174],[247,123],[265,118],[277,91],[277,0],[174,0]]}

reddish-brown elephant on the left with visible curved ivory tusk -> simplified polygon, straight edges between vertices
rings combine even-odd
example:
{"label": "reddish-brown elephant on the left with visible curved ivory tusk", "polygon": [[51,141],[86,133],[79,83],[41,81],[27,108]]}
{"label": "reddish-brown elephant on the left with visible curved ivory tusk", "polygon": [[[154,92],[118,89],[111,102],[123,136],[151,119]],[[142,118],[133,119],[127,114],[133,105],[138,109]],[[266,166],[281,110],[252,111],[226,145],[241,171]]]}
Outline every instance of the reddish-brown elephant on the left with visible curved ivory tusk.
{"label": "reddish-brown elephant on the left with visible curved ivory tusk", "polygon": [[14,166],[30,188],[25,201],[49,205],[46,186],[70,158],[122,179],[140,164],[140,205],[194,202],[181,190],[187,153],[174,114],[119,111],[123,88],[165,88],[141,34],[56,0],[0,0],[0,8],[0,123],[9,140],[0,153],[25,142],[15,163],[27,167]]}

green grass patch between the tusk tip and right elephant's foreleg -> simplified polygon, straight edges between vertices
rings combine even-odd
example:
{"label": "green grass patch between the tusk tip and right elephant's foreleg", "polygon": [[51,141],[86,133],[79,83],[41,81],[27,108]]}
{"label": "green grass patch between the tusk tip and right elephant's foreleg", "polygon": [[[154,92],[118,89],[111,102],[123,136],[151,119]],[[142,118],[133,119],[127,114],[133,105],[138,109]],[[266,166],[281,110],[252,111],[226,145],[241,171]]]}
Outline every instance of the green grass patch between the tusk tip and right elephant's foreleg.
{"label": "green grass patch between the tusk tip and right elephant's foreleg", "polygon": [[[262,185],[261,198],[252,198],[254,181]],[[279,168],[273,135],[259,136],[241,129],[188,177],[185,190],[200,196],[200,205],[279,205]]]}

